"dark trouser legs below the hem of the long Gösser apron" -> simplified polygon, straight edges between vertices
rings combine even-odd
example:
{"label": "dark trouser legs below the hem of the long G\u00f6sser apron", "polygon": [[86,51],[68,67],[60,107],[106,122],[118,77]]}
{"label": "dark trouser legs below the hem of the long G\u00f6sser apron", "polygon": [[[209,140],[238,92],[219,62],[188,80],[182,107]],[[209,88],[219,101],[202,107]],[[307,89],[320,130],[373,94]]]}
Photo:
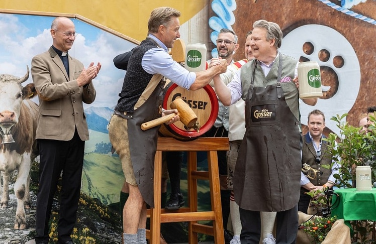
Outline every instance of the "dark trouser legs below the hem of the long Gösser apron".
{"label": "dark trouser legs below the hem of the long G\u00f6sser apron", "polygon": [[[242,224],[240,241],[242,244],[258,244],[261,236],[260,212],[239,208]],[[292,209],[277,212],[276,242],[279,244],[293,244],[298,233],[298,205]]]}

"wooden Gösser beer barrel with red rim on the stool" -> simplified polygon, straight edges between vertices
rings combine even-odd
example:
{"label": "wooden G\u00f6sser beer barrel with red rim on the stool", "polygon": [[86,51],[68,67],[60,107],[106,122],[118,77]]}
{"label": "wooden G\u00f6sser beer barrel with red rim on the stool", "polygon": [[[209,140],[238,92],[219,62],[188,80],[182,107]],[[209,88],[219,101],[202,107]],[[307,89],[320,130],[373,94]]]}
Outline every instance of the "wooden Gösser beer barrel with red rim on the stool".
{"label": "wooden G\u00f6sser beer barrel with red rim on the stool", "polygon": [[171,125],[162,124],[159,129],[162,136],[189,141],[198,138],[212,128],[218,115],[218,98],[210,85],[191,91],[169,82],[164,90],[163,108],[171,109],[171,102],[180,97],[196,113],[200,129],[198,132],[194,129],[187,129],[180,121],[177,121]]}

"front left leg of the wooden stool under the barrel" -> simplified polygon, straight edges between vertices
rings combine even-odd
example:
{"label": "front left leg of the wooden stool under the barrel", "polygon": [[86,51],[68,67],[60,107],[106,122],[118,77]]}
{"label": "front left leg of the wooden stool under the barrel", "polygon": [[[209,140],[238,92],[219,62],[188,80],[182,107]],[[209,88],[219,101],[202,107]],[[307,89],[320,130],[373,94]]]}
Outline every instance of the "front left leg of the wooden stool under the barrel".
{"label": "front left leg of the wooden stool under the barrel", "polygon": [[162,151],[156,151],[154,159],[154,208],[150,208],[150,243],[160,244],[160,198],[162,181]]}

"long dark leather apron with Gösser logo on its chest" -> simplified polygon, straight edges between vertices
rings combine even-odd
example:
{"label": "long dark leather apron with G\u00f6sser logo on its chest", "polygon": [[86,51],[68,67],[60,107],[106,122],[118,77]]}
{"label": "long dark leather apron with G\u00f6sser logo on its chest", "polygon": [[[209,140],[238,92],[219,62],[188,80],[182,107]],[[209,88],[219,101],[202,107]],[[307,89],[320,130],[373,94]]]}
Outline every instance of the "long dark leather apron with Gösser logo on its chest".
{"label": "long dark leather apron with G\u00f6sser logo on its chest", "polygon": [[300,123],[280,86],[282,58],[275,86],[254,87],[256,65],[246,97],[246,133],[235,166],[235,201],[246,210],[289,210],[300,197]]}

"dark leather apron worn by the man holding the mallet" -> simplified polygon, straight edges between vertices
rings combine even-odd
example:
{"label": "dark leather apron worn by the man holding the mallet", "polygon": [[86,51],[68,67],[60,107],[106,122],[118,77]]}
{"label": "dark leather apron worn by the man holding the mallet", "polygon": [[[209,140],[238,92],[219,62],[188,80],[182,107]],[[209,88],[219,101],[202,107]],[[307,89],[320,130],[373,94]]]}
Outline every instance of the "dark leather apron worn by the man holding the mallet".
{"label": "dark leather apron worn by the man holding the mallet", "polygon": [[128,141],[131,160],[138,188],[145,202],[154,207],[154,157],[157,149],[158,130],[160,126],[141,130],[141,124],[160,117],[163,103],[164,81],[160,81],[146,101],[127,119]]}

